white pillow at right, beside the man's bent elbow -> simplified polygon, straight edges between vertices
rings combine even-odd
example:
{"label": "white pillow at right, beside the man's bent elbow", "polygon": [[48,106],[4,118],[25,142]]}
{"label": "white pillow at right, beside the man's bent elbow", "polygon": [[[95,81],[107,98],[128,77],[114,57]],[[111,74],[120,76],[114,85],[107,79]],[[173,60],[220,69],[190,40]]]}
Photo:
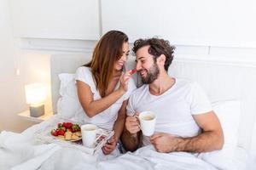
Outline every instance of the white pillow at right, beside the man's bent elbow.
{"label": "white pillow at right, beside the man's bent elbow", "polygon": [[241,104],[238,100],[225,100],[212,103],[224,132],[224,147],[207,153],[201,153],[202,160],[224,170],[236,170],[236,145],[238,139]]}

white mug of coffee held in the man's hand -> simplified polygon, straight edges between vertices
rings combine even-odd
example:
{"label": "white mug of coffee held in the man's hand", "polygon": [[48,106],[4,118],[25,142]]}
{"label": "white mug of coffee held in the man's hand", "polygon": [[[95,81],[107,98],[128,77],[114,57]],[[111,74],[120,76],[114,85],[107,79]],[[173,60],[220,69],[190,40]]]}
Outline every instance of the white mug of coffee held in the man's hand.
{"label": "white mug of coffee held in the man's hand", "polygon": [[143,111],[137,116],[140,122],[140,128],[143,131],[143,135],[151,136],[154,134],[154,127],[156,121],[156,115],[152,111]]}

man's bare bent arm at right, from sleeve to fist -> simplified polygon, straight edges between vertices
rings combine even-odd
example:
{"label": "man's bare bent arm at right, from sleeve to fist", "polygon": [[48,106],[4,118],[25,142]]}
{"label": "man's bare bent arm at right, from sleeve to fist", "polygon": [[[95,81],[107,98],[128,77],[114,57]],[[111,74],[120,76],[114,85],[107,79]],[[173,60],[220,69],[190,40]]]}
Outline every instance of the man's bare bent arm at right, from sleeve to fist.
{"label": "man's bare bent arm at right, from sleeve to fist", "polygon": [[151,143],[160,152],[221,150],[224,144],[224,134],[215,113],[210,111],[195,115],[194,119],[198,126],[202,128],[202,133],[198,136],[180,138],[167,133],[156,133],[151,137]]}

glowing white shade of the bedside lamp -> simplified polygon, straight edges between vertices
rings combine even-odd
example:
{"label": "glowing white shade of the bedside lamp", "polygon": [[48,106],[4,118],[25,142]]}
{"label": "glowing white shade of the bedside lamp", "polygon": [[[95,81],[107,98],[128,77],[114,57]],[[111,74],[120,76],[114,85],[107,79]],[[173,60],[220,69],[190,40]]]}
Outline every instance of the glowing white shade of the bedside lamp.
{"label": "glowing white shade of the bedside lamp", "polygon": [[46,88],[42,83],[32,83],[25,86],[26,103],[40,105],[46,99]]}

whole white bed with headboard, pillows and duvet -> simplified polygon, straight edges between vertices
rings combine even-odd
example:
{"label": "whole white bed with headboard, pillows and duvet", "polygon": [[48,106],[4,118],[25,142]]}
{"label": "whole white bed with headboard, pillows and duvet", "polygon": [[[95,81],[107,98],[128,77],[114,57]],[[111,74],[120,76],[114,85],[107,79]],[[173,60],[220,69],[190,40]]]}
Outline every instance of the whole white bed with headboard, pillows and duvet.
{"label": "whole white bed with headboard, pillows and duvet", "polygon": [[[74,99],[64,100],[65,92],[73,97],[68,94],[73,88],[65,80],[68,80],[67,77],[69,81],[73,80],[76,68],[89,59],[86,54],[52,55],[51,89],[55,116],[23,133],[0,133],[0,169],[248,169],[247,160],[253,148],[253,113],[256,112],[256,94],[251,93],[256,87],[256,66],[214,56],[177,55],[169,74],[200,82],[206,90],[224,128],[223,150],[205,154],[160,154],[152,146],[147,146],[123,155],[102,156],[99,153],[98,156],[90,156],[70,145],[65,147],[35,140],[40,132],[62,119],[79,120],[79,116],[74,116],[78,107],[63,109],[65,102],[77,103]],[[134,57],[131,56],[127,69],[134,65]],[[61,73],[65,74],[60,76]],[[137,84],[140,83],[136,75],[133,78]]]}

